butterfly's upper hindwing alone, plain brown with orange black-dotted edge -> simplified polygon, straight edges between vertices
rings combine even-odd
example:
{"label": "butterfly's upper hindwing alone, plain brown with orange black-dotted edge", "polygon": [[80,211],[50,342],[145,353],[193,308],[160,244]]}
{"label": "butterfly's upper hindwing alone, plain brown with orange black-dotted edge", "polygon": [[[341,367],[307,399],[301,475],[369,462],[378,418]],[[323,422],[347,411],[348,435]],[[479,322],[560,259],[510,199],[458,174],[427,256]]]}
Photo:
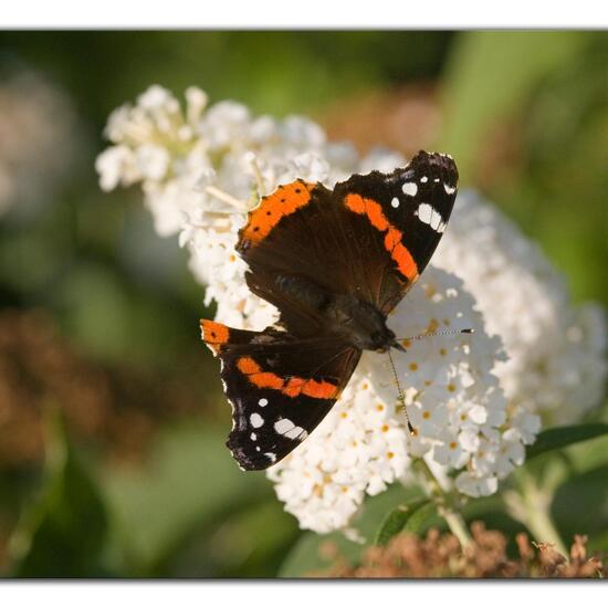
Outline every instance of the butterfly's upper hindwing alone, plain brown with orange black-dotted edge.
{"label": "butterfly's upper hindwing alone, plain brown with orange black-dotted edge", "polygon": [[296,180],[262,198],[240,232],[250,290],[281,311],[281,325],[294,335],[317,336],[331,294],[368,284],[369,271],[349,254],[355,235],[344,219],[331,190]]}

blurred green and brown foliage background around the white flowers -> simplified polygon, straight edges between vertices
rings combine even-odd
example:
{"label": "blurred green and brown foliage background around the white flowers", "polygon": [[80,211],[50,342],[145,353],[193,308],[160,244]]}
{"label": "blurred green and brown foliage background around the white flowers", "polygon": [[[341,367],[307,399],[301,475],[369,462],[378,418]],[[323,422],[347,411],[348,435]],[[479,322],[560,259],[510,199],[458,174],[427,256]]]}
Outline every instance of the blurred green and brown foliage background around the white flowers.
{"label": "blurred green and brown foliage background around the white flowers", "polygon": [[[223,447],[230,412],[198,333],[212,311],[186,252],[155,234],[137,188],[97,186],[112,109],[154,83],[178,95],[196,84],[211,103],[312,116],[361,153],[449,151],[463,186],[542,244],[575,301],[608,305],[607,65],[608,34],[593,32],[1,32],[0,166],[27,126],[6,102],[24,74],[69,106],[48,107],[28,137],[44,139],[60,111],[71,118],[63,143],[19,171],[7,165],[17,185],[0,214],[0,573],[273,577],[314,563],[315,541],[270,482]],[[21,91],[24,103],[36,95]],[[579,476],[554,514],[565,538],[588,533],[608,548],[599,449],[568,452]],[[495,501],[470,516],[480,513],[521,528]]]}

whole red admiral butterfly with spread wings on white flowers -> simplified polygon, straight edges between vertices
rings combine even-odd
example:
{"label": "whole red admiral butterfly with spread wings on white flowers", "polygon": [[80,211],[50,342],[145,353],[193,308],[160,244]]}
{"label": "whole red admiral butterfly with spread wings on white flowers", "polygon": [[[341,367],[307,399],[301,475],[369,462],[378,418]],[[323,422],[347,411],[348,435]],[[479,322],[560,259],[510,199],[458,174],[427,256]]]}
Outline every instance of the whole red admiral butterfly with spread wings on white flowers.
{"label": "whole red admiral butterfly with spread wings on white flowers", "polygon": [[239,233],[250,290],[274,304],[263,332],[201,321],[232,403],[227,445],[260,470],[296,448],[336,402],[364,349],[403,349],[388,313],[428,264],[458,187],[451,157],[420,151],[328,190],[296,180],[263,197]]}

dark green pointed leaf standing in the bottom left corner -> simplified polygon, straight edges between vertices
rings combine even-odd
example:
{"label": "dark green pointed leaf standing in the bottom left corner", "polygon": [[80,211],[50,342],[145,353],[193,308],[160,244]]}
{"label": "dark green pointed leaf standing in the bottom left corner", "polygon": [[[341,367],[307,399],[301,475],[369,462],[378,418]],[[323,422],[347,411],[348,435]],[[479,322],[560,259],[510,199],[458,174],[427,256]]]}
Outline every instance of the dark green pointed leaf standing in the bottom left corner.
{"label": "dark green pointed leaf standing in the bottom left corner", "polygon": [[10,542],[10,574],[24,578],[106,575],[107,514],[97,485],[67,442],[61,420],[50,421],[42,494],[23,514]]}

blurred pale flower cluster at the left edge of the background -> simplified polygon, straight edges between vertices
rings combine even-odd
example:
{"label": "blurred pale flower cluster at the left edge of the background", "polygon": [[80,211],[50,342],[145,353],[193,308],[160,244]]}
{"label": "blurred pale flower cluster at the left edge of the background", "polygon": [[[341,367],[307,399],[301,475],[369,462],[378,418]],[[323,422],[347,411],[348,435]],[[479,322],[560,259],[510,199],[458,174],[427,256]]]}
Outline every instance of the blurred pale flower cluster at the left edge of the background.
{"label": "blurred pale flower cluster at the left edge of the background", "polygon": [[66,94],[35,72],[22,71],[0,85],[0,214],[49,200],[81,144]]}

